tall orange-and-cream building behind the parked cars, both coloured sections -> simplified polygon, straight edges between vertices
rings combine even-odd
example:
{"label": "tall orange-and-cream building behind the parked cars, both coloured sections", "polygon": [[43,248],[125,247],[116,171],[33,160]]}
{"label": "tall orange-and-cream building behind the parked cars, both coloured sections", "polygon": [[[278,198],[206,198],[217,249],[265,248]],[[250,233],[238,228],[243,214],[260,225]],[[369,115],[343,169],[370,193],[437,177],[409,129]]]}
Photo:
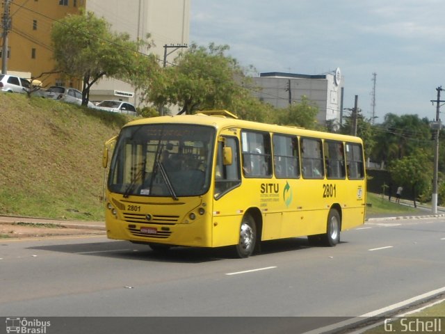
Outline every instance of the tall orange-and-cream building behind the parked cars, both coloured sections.
{"label": "tall orange-and-cream building behind the parked cars, both coloured sections", "polygon": [[[190,32],[191,0],[1,0],[3,8],[9,5],[11,18],[8,33],[8,72],[31,73],[39,77],[42,86],[72,86],[80,89],[81,83],[70,81],[54,72],[51,26],[68,14],[77,14],[81,8],[104,17],[111,29],[128,33],[131,38],[143,38],[148,33],[154,41],[154,52],[162,65],[164,51],[168,49],[167,63],[177,56],[172,45],[187,45]],[[4,11],[4,10],[3,10]],[[3,38],[2,38],[3,44]],[[165,48],[164,46],[167,45]],[[138,104],[131,85],[115,79],[102,79],[90,90],[90,100],[124,100]]]}

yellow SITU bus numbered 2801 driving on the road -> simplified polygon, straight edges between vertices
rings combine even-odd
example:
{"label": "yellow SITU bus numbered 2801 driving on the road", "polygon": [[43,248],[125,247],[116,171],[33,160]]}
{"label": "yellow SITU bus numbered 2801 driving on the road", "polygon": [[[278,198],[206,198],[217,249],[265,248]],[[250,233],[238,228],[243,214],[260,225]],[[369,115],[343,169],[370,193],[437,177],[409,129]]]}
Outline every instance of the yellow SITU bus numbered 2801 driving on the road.
{"label": "yellow SITU bus numbered 2801 driving on the road", "polygon": [[134,120],[109,166],[107,236],[153,250],[232,246],[238,257],[273,239],[335,246],[364,223],[363,151],[355,136],[228,111]]}

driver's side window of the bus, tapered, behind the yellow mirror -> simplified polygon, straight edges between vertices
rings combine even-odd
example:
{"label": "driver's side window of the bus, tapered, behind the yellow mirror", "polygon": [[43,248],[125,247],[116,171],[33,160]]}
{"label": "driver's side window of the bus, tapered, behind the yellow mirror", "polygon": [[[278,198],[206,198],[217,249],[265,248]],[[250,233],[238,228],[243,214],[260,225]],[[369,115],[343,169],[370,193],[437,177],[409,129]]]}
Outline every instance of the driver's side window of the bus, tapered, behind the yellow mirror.
{"label": "driver's side window of the bus, tapered, behind the yellow mirror", "polygon": [[[232,164],[223,164],[223,148],[224,145],[232,148]],[[218,142],[218,152],[216,155],[216,166],[215,166],[215,193],[216,199],[223,196],[225,193],[234,189],[236,186],[241,184],[241,177],[239,173],[239,150],[238,141],[236,138],[225,137],[225,143]]]}

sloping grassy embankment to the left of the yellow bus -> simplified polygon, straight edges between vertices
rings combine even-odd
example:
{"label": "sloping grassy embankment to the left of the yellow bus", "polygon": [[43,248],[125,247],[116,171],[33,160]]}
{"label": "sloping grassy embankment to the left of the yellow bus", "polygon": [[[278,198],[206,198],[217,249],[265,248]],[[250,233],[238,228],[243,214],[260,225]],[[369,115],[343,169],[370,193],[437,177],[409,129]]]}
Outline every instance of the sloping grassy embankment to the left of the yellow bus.
{"label": "sloping grassy embankment to the left of the yellow bus", "polygon": [[0,93],[0,214],[102,220],[104,142],[128,116]]}

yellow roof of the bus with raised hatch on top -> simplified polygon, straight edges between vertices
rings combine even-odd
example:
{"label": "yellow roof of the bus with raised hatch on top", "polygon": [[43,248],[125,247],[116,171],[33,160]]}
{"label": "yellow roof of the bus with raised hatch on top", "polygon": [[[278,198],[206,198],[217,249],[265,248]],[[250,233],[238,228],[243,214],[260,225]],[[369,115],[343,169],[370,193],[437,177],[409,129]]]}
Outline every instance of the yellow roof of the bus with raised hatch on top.
{"label": "yellow roof of the bus with raised hatch on top", "polygon": [[[226,113],[226,114],[225,114]],[[244,129],[253,129],[264,132],[279,132],[281,134],[293,134],[298,136],[312,136],[325,139],[335,139],[337,141],[362,142],[362,139],[356,136],[348,136],[344,134],[333,134],[330,132],[321,132],[316,130],[304,129],[302,127],[291,127],[284,125],[272,125],[268,123],[252,122],[250,120],[238,120],[229,111],[202,111],[195,115],[176,115],[176,116],[159,116],[153,118],[142,118],[133,120],[124,127],[133,125],[149,125],[149,124],[193,124],[193,125],[209,125],[216,129],[227,129],[230,127],[239,127]],[[236,116],[234,116],[236,117]]]}

